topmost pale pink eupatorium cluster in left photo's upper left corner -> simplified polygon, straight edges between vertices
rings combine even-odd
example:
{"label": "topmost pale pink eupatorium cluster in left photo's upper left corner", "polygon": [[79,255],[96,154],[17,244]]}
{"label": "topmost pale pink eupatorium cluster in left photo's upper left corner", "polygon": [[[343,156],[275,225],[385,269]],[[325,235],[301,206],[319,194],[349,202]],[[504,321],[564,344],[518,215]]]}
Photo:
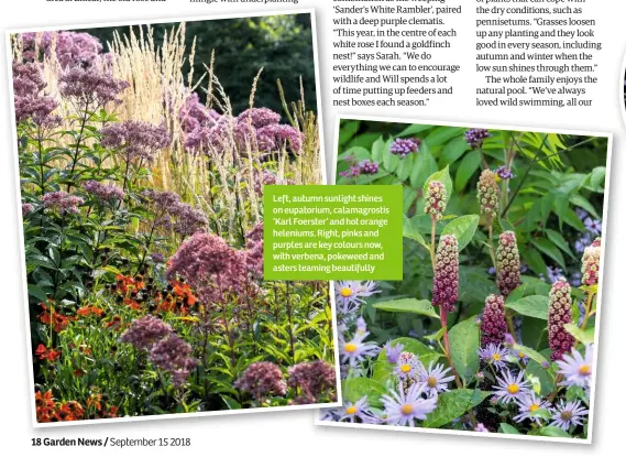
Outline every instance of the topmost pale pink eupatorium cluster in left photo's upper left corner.
{"label": "topmost pale pink eupatorium cluster in left photo's upper left corner", "polygon": [[[37,42],[39,35],[39,42]],[[39,47],[46,56],[52,55],[53,41],[55,42],[56,57],[62,67],[70,67],[77,64],[88,66],[94,63],[102,52],[100,40],[88,33],[78,32],[29,32],[21,35],[23,44],[23,57],[26,61],[39,61],[35,47]]]}

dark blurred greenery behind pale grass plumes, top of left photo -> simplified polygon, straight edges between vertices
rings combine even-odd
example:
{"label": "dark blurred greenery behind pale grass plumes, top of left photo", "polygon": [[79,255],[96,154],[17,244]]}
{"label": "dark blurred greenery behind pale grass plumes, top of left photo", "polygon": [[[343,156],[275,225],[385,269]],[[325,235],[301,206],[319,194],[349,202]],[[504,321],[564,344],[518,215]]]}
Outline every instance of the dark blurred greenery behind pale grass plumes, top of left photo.
{"label": "dark blurred greenery behind pale grass plumes, top of left photo", "polygon": [[[162,23],[152,26],[155,43],[158,44],[163,42],[165,33],[178,24]],[[138,29],[134,29],[136,32]],[[286,99],[295,101],[300,98],[301,77],[307,109],[317,111],[310,14],[188,21],[186,29],[188,51],[196,37],[195,81],[205,73],[202,64],[209,65],[215,50],[216,75],[230,97],[234,113],[248,108],[252,83],[261,67],[264,70],[256,89],[256,107],[282,112],[276,79],[281,79]],[[112,41],[113,33],[128,34],[129,28],[84,29],[77,32],[97,36],[107,52],[107,42]],[[198,94],[205,97],[202,91]]]}

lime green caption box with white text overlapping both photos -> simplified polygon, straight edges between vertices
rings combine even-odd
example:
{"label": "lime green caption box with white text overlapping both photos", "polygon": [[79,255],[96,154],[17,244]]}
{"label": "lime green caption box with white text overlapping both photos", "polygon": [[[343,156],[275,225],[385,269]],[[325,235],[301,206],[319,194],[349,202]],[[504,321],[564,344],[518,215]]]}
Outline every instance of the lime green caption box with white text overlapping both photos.
{"label": "lime green caption box with white text overlapping both photos", "polygon": [[268,281],[403,279],[402,186],[265,186]]}

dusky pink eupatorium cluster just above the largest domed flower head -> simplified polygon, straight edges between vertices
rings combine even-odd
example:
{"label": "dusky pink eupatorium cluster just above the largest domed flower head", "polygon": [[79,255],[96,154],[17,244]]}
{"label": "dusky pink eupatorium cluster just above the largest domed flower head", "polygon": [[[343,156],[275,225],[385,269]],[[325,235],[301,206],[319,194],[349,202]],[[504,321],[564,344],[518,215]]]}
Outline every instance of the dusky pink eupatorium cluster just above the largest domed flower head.
{"label": "dusky pink eupatorium cluster just above the largest domed flower head", "polygon": [[155,214],[154,224],[160,229],[188,237],[208,224],[201,210],[180,202],[180,197],[173,192],[149,189],[144,191],[143,197]]}

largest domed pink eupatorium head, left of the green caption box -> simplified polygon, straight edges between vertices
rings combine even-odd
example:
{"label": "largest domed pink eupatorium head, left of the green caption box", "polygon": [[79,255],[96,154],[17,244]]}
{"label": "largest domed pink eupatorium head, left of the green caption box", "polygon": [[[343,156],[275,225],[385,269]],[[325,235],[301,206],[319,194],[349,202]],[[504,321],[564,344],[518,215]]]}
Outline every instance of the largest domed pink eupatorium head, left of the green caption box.
{"label": "largest domed pink eupatorium head, left of the green caption box", "polygon": [[246,255],[221,237],[197,232],[172,257],[167,276],[184,276],[206,303],[222,303],[240,295],[248,284]]}

